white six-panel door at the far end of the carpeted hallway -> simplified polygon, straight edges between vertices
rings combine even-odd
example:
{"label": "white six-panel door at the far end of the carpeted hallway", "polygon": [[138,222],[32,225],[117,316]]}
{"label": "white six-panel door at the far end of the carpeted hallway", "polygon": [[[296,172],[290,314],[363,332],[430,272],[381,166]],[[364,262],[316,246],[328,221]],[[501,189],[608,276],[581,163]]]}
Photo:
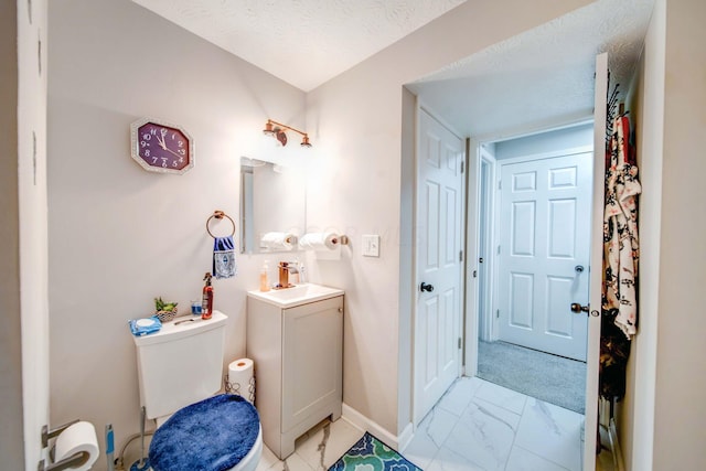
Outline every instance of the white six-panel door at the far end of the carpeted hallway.
{"label": "white six-panel door at the far end of the carpeted hallway", "polygon": [[499,338],[586,361],[592,153],[501,170]]}

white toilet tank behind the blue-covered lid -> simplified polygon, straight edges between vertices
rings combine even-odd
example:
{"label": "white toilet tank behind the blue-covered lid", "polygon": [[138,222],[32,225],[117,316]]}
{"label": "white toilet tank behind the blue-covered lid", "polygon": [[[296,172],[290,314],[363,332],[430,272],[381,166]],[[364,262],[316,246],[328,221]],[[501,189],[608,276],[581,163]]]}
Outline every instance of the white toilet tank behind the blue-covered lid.
{"label": "white toilet tank behind the blue-covered lid", "polygon": [[221,389],[226,319],[220,311],[207,321],[182,317],[159,332],[133,336],[140,405],[148,418],[168,416]]}

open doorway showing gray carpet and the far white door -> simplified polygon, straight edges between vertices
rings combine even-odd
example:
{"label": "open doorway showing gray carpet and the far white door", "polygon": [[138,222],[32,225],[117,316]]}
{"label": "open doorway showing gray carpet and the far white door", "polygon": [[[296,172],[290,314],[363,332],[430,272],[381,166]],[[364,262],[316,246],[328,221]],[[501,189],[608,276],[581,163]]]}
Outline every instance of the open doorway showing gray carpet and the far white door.
{"label": "open doorway showing gray carpet and the far white door", "polygon": [[579,414],[587,319],[568,307],[588,301],[592,132],[479,146],[478,376]]}

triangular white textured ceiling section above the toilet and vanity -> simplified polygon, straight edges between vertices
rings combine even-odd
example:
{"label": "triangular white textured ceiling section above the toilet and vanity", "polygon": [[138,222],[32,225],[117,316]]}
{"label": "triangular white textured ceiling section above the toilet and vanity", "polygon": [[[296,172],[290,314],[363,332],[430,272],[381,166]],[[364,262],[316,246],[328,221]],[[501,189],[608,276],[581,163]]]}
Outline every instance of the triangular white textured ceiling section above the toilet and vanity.
{"label": "triangular white textured ceiling section above the toilet and vanity", "polygon": [[132,0],[309,92],[466,0]]}

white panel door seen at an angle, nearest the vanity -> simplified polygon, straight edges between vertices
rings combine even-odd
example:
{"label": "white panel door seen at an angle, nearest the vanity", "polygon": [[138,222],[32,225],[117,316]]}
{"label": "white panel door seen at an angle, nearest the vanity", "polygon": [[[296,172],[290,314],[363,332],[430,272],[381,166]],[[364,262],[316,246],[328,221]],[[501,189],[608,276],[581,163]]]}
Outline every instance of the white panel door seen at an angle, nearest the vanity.
{"label": "white panel door seen at an angle, nearest the vanity", "polygon": [[425,110],[418,116],[415,424],[460,375],[463,299],[464,144]]}

